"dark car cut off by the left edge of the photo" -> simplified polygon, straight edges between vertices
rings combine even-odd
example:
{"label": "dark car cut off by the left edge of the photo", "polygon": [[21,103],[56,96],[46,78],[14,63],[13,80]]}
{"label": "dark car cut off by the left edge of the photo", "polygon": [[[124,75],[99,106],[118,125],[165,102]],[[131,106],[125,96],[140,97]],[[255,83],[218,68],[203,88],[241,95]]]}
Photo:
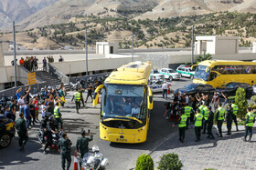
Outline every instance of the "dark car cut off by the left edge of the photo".
{"label": "dark car cut off by the left edge of the photo", "polygon": [[15,123],[11,119],[0,115],[0,148],[10,145],[15,134]]}

